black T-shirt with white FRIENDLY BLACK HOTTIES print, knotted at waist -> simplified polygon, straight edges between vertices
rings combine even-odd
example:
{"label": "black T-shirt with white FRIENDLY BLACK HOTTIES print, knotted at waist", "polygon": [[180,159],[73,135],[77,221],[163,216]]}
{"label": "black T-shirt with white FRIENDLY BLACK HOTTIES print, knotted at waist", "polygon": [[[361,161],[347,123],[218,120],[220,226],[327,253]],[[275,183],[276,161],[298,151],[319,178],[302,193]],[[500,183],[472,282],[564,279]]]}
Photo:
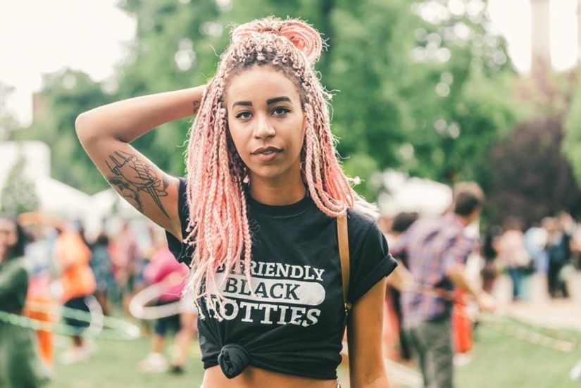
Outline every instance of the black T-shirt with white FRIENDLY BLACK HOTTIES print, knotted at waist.
{"label": "black T-shirt with white FRIENDLY BLACK HOTTIES print, knotted at waist", "polygon": [[[257,368],[337,378],[344,320],[337,220],[308,196],[289,206],[268,206],[250,196],[247,201],[251,284],[244,275],[231,274],[221,289],[227,298],[223,306],[217,297],[212,298],[216,303],[201,302],[198,331],[204,368],[218,365],[224,345],[237,344],[247,352],[249,365]],[[186,236],[185,180],[180,180],[179,202]],[[349,210],[348,225],[349,301],[356,302],[394,270],[396,261],[374,220]],[[170,251],[189,263],[192,247],[167,235]],[[223,276],[218,273],[217,279]]]}

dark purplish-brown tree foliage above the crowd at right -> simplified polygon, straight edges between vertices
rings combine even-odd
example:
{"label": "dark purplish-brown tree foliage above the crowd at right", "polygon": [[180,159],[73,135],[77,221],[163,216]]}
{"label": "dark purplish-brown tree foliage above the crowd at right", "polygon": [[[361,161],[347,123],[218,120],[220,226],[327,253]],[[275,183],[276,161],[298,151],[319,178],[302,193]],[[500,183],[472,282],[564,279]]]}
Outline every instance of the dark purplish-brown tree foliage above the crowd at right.
{"label": "dark purplish-brown tree foliage above the crowd at right", "polygon": [[489,154],[494,170],[487,200],[489,219],[502,225],[518,216],[527,225],[546,215],[581,214],[581,190],[559,149],[563,128],[558,118],[523,123]]}

